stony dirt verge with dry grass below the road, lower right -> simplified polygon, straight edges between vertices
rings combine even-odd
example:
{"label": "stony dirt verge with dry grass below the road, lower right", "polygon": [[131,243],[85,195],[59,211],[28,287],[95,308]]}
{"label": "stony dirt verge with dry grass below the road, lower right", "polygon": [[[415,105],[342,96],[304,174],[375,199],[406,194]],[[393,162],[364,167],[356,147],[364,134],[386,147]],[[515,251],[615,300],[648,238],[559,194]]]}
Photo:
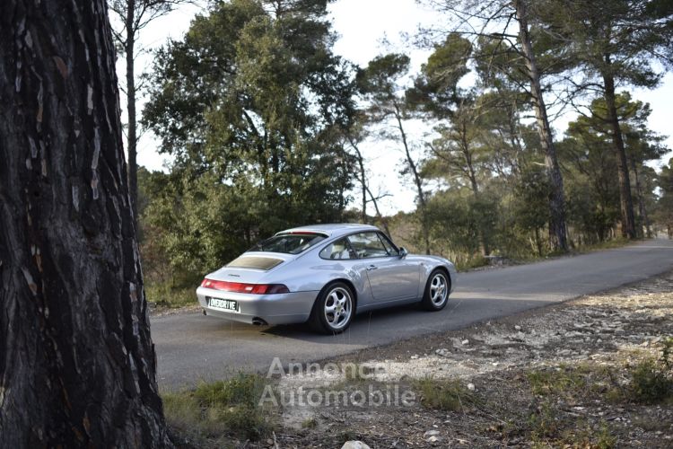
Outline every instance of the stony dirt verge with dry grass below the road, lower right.
{"label": "stony dirt verge with dry grass below the road, lower right", "polygon": [[320,364],[357,366],[357,373],[279,376],[279,394],[301,388],[371,396],[371,387],[397,387],[415,401],[287,403],[273,438],[241,445],[673,447],[671,392],[656,390],[659,383],[645,375],[670,382],[673,367],[662,351],[671,336],[673,272]]}

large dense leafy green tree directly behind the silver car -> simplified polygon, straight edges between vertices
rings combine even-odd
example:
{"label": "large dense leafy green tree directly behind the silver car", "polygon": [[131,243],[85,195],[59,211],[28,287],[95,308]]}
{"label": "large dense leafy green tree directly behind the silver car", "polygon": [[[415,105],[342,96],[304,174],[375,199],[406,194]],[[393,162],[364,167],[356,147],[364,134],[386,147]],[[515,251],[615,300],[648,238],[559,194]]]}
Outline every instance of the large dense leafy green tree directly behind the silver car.
{"label": "large dense leafy green tree directly behind the silver car", "polygon": [[174,285],[280,229],[341,220],[356,86],[332,53],[326,4],[216,3],[159,51],[144,123],[175,162],[146,176],[144,258],[163,257]]}

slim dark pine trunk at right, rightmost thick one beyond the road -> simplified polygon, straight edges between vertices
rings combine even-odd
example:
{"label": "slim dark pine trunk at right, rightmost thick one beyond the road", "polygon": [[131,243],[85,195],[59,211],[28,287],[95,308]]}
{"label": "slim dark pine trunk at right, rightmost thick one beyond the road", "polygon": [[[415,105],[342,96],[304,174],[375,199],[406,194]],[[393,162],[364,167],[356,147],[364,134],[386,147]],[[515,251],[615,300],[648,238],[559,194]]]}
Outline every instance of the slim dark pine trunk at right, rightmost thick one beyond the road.
{"label": "slim dark pine trunk at right, rightmost thick one beyond the road", "polygon": [[[610,64],[609,56],[606,55],[606,63]],[[617,162],[617,173],[619,178],[619,205],[622,212],[622,236],[634,239],[634,200],[631,198],[631,180],[629,180],[629,169],[626,162],[626,149],[622,128],[619,125],[619,117],[616,111],[615,100],[615,79],[612,75],[603,74],[603,83],[605,84],[605,101],[607,105],[607,121],[612,128],[612,142],[615,145],[615,154]]]}

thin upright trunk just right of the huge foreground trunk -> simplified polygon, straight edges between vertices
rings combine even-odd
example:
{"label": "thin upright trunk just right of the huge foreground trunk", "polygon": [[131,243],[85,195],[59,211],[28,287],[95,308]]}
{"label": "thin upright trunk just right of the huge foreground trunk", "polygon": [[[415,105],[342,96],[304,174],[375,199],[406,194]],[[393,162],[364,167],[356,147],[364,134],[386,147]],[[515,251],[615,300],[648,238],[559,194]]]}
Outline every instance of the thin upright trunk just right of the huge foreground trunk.
{"label": "thin upright trunk just right of the huge foreground trunk", "polygon": [[127,57],[127,112],[128,112],[128,194],[131,197],[133,221],[138,228],[138,163],[137,122],[135,119],[135,0],[127,2],[127,42],[124,51]]}

